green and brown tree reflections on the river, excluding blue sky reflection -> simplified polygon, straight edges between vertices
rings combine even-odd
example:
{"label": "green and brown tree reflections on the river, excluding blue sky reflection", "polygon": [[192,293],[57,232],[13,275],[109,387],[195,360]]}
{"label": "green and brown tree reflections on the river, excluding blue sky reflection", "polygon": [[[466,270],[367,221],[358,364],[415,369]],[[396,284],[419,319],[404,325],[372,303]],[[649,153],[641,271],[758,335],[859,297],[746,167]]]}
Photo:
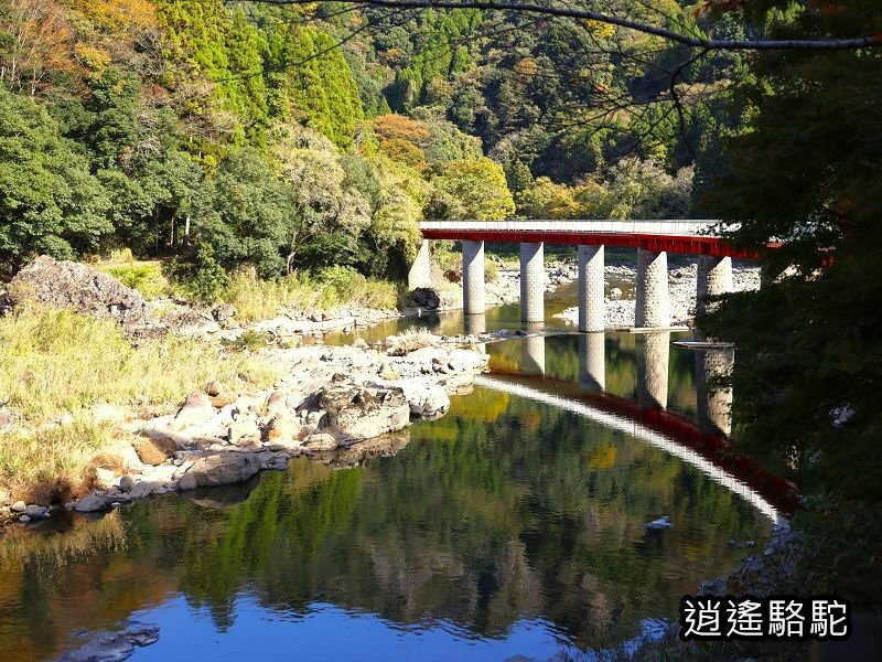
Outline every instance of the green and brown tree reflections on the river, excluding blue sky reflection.
{"label": "green and brown tree reflections on the river, excluding blue sky reflection", "polygon": [[[19,609],[78,604],[82,587],[94,587],[37,647],[168,590],[223,630],[246,586],[271,609],[326,600],[402,623],[447,618],[483,636],[545,616],[580,644],[603,645],[633,637],[641,618],[676,612],[678,595],[733,563],[738,553],[721,541],[764,527],[660,450],[504,394],[476,389],[411,433],[396,458],[368,466],[303,460],[227,503],[215,492],[127,509],[116,515],[125,546],[96,543],[86,558],[51,563],[22,554],[21,586],[10,584],[15,568],[0,575],[6,604],[17,594]],[[674,528],[643,527],[660,513]],[[76,528],[98,540],[106,521]],[[39,578],[29,573],[36,558]],[[33,616],[13,615],[0,647],[25,637]]]}

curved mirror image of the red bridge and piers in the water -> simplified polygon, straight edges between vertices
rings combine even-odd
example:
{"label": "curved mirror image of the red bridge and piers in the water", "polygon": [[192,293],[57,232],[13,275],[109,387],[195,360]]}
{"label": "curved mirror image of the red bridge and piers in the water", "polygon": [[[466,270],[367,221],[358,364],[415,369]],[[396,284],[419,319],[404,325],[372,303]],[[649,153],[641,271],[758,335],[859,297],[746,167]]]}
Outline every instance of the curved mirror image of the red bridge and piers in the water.
{"label": "curved mirror image of the red bridge and piers in the water", "polygon": [[[793,512],[793,487],[732,451],[732,389],[722,385],[734,365],[734,350],[711,346],[692,350],[696,365],[695,419],[668,410],[669,331],[637,333],[636,401],[607,393],[607,337],[580,333],[576,383],[546,374],[546,342],[541,324],[525,328],[517,375],[496,370],[477,385],[553,405],[632,435],[679,457],[716,482],[739,494],[775,523]],[[611,340],[614,342],[614,340]],[[493,363],[492,363],[493,365]]]}

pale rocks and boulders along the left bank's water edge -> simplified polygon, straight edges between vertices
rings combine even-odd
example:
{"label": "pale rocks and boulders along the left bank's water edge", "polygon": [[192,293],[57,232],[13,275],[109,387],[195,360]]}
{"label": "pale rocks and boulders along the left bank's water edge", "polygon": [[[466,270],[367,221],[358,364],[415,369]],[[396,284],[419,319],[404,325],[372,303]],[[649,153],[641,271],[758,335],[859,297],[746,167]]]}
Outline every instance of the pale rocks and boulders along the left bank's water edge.
{"label": "pale rocks and boulders along the left bank's water edge", "polygon": [[[373,441],[365,451],[376,452],[384,435],[443,416],[450,395],[467,392],[487,363],[485,354],[424,332],[373,348],[356,341],[265,349],[260,356],[286,375],[271,389],[228,393],[212,382],[174,414],[141,419],[116,410],[119,429],[136,442],[117,449],[118,467],[95,470],[94,491],[65,506],[96,512],[151,494],[240,482],[282,470],[301,455],[342,452],[346,463],[357,463],[359,445]],[[52,514],[24,502],[3,510],[22,523]]]}

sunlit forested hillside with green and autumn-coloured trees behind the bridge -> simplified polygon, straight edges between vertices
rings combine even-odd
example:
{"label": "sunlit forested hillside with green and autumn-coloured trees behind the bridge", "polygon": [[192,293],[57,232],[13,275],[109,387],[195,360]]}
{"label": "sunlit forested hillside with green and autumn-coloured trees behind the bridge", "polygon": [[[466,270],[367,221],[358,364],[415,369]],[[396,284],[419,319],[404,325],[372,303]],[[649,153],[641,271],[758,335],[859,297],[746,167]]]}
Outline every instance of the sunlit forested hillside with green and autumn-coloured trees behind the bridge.
{"label": "sunlit forested hillside with green and autumn-coloured trees behind the bridge", "polygon": [[[681,4],[637,13],[699,30]],[[128,247],[207,284],[396,278],[423,217],[682,216],[718,127],[695,86],[685,119],[659,100],[681,56],[517,12],[3,0],[0,269]]]}

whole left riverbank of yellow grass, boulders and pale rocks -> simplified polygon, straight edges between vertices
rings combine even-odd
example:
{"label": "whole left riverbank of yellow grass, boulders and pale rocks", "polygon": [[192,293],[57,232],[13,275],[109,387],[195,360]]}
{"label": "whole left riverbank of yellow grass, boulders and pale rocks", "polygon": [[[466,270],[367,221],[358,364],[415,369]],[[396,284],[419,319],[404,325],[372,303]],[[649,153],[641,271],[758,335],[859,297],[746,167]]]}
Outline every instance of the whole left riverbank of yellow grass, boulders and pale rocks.
{"label": "whole left riverbank of yellow grass, boulders and pale rocks", "polygon": [[20,273],[3,301],[0,516],[22,523],[62,504],[89,512],[245,480],[299,455],[341,449],[357,461],[365,440],[443,415],[486,363],[424,332],[375,346],[306,342],[391,311],[290,313],[291,333],[272,332],[237,324],[228,308],[148,302],[51,258]]}

